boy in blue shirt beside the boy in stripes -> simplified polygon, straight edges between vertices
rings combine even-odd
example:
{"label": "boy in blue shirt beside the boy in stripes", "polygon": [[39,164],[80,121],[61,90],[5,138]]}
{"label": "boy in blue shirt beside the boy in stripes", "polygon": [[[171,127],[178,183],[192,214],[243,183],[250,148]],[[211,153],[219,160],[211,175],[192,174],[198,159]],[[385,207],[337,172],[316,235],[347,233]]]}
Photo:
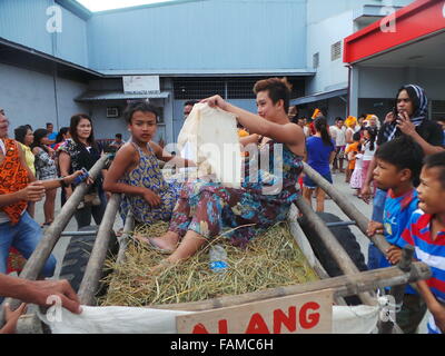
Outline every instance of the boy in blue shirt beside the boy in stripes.
{"label": "boy in blue shirt beside the boy in stripes", "polygon": [[[402,233],[418,205],[413,180],[421,174],[423,156],[421,146],[407,136],[400,136],[382,145],[375,154],[377,165],[373,172],[374,181],[379,189],[388,190],[388,192],[383,222],[372,220],[367,234],[368,236],[384,234],[392,246],[385,256],[374,244],[369,245],[369,269],[389,267],[400,260],[402,248],[407,245],[402,238]],[[408,286],[405,290],[402,310],[397,313],[398,326],[406,334],[415,333],[425,313],[425,303]]]}

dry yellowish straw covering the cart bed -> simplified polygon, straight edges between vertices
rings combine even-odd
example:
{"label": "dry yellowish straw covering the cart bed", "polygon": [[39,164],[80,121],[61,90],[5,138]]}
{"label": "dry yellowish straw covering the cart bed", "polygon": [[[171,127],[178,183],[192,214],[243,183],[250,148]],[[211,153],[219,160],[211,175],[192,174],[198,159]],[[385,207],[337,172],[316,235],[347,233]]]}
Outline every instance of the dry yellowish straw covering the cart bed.
{"label": "dry yellowish straw covering the cart bed", "polygon": [[[154,237],[166,230],[167,224],[158,222],[140,226],[136,233]],[[229,264],[226,273],[209,269],[207,245],[188,260],[167,267],[156,277],[148,271],[166,256],[139,243],[129,244],[123,265],[107,260],[107,267],[113,273],[105,278],[109,288],[108,294],[99,299],[100,305],[136,307],[198,301],[318,279],[286,222],[275,225],[251,240],[246,249],[229,245],[224,236],[211,240],[211,244],[224,245]],[[138,281],[141,278],[144,283]]]}

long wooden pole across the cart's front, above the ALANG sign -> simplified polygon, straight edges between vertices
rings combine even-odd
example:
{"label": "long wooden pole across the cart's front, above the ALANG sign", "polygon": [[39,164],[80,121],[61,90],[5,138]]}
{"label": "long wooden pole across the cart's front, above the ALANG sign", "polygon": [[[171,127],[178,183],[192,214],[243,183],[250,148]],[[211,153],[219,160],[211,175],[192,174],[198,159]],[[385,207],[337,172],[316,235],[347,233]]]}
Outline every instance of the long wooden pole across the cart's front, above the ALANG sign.
{"label": "long wooden pole across the cart's front, above the ALANG sign", "polygon": [[334,289],[334,297],[348,297],[366,290],[375,290],[377,288],[400,285],[407,281],[411,283],[427,279],[431,276],[432,273],[427,265],[424,263],[414,263],[408,273],[404,273],[398,267],[388,267],[299,285],[269,288],[238,296],[222,296],[192,303],[150,305],[149,307],[158,309],[199,312],[323,289]]}

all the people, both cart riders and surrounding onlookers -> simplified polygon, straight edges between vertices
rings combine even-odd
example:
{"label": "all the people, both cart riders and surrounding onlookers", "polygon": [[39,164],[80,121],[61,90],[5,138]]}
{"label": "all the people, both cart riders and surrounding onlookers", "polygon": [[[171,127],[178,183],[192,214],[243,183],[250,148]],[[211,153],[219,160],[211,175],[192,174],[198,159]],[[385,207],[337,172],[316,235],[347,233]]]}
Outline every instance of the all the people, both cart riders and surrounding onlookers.
{"label": "all the people, both cart riders and surrounding onlookers", "polygon": [[[386,254],[373,244],[368,250],[368,267],[382,268],[397,264],[402,248],[414,245],[416,258],[427,264],[432,278],[417,283],[417,290],[405,291],[397,323],[406,333],[416,330],[426,309],[432,318],[431,333],[445,330],[445,151],[442,127],[428,120],[424,90],[404,86],[396,95],[395,110],[383,122],[375,115],[358,118],[336,118],[328,126],[327,113],[315,110],[310,119],[298,117],[298,108],[289,107],[290,90],[286,80],[270,78],[254,87],[257,115],[238,108],[220,96],[201,100],[210,107],[231,112],[238,121],[243,147],[256,145],[258,155],[243,152],[245,166],[240,188],[224,186],[208,179],[178,182],[164,177],[159,161],[177,167],[192,167],[195,162],[166,151],[154,142],[158,110],[147,101],[130,102],[125,119],[131,134],[123,142],[116,136],[112,146],[116,157],[109,169],[95,180],[87,178],[89,190],[77,207],[78,227],[91,219],[101,222],[107,194],[122,194],[122,218],[131,210],[137,222],[169,222],[162,236],[137,236],[148,248],[168,256],[150,270],[160,273],[166,266],[179,264],[228,228],[228,240],[235,246],[248,243],[277,221],[285,220],[290,205],[303,187],[303,196],[316,210],[324,210],[325,194],[316,181],[303,177],[303,161],[333,182],[332,174],[345,174],[354,194],[369,201],[373,216],[368,235],[384,234],[390,248]],[[186,102],[185,119],[196,102]],[[7,271],[10,247],[28,258],[41,238],[41,227],[32,219],[33,202],[46,198],[44,222],[53,220],[56,189],[62,187],[62,204],[72,195],[76,177],[89,170],[102,151],[93,135],[93,122],[88,115],[71,118],[70,127],[56,134],[52,126],[32,130],[29,126],[14,130],[16,140],[8,138],[9,121],[0,113],[0,273]],[[277,145],[283,148],[281,177],[259,169],[249,176],[253,160],[269,158],[274,167]],[[271,160],[271,161],[270,161]],[[6,167],[9,171],[6,172]],[[12,167],[12,168],[11,168]],[[273,169],[270,169],[273,171]],[[268,171],[267,174],[270,174]],[[259,179],[258,179],[259,178]],[[37,180],[38,179],[38,180]],[[279,179],[281,189],[264,194],[264,188]],[[43,275],[51,276],[56,260],[51,256]],[[0,278],[3,286],[13,280]],[[66,293],[71,309],[78,309],[72,290]],[[11,293],[9,293],[11,295]],[[31,300],[32,297],[22,298]],[[13,319],[13,318],[12,318]],[[9,326],[11,327],[11,326]]]}

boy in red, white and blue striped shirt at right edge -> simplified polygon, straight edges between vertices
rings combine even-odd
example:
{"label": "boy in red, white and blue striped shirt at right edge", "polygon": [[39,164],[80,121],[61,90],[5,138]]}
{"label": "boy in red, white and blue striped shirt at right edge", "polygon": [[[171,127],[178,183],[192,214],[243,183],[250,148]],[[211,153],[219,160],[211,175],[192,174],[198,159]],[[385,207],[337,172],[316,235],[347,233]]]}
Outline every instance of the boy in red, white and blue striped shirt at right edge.
{"label": "boy in red, white and blue striped shirt at right edge", "polygon": [[418,260],[433,275],[417,281],[431,317],[428,332],[445,332],[445,152],[427,156],[421,174],[418,210],[409,219],[402,238],[415,247]]}

